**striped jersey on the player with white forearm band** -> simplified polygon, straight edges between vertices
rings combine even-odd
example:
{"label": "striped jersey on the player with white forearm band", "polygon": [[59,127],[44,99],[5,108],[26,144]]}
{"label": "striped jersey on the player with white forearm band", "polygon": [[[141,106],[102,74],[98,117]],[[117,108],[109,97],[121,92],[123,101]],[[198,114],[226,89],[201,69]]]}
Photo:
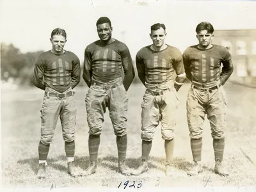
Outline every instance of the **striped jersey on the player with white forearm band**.
{"label": "striped jersey on the player with white forearm band", "polygon": [[[177,76],[184,74],[182,54],[179,49],[167,45],[162,51],[153,51],[150,46],[143,47],[136,55],[136,67],[142,82],[164,83],[173,79],[174,71]],[[183,83],[184,79],[177,77],[176,81]]]}

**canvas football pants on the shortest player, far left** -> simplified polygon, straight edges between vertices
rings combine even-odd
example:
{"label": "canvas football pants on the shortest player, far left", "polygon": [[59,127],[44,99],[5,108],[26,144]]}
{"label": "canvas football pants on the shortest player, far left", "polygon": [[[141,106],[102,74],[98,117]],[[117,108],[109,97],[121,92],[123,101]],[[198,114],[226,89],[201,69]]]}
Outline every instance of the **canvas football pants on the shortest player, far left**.
{"label": "canvas football pants on the shortest player, far left", "polygon": [[76,130],[76,101],[74,96],[56,97],[54,94],[72,92],[71,87],[63,93],[56,92],[52,88],[45,88],[45,96],[41,109],[41,142],[50,144],[54,135],[58,117],[62,126],[63,139],[74,141]]}

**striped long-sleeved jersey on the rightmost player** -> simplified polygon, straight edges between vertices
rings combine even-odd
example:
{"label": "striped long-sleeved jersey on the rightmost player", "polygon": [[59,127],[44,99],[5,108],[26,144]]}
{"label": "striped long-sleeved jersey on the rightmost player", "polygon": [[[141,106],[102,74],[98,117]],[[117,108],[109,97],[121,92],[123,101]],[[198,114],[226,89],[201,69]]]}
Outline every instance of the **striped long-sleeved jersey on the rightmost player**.
{"label": "striped long-sleeved jersey on the rightmost player", "polygon": [[220,45],[205,50],[198,49],[198,45],[188,47],[183,53],[183,62],[188,79],[201,84],[219,80],[225,84],[234,69],[230,53]]}

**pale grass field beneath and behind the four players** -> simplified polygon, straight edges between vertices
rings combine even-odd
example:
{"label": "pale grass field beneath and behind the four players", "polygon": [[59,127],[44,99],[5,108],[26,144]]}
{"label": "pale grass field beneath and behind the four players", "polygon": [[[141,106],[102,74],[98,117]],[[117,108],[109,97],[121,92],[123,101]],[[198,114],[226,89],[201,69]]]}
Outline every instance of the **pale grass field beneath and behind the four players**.
{"label": "pale grass field beneath and behind the four players", "polygon": [[[84,98],[87,87],[75,88],[77,104],[76,166],[82,171],[89,163],[88,124]],[[202,163],[204,172],[188,177],[186,172],[193,166],[188,125],[186,121],[186,96],[189,84],[179,92],[178,123],[175,130],[173,157],[174,177],[164,175],[164,141],[160,129],[154,136],[150,153],[149,170],[139,176],[124,176],[118,172],[116,137],[109,113],[105,115],[100,137],[97,173],[88,177],[71,178],[67,173],[64,141],[60,120],[48,156],[47,178],[36,178],[38,170],[38,142],[40,140],[40,108],[44,92],[36,88],[1,91],[1,153],[2,186],[6,188],[67,188],[111,187],[124,188],[134,183],[136,188],[204,187],[204,186],[255,186],[256,183],[256,90],[235,84],[225,84],[228,100],[228,126],[224,166],[229,177],[213,173],[214,152],[209,121],[204,123]],[[145,88],[132,84],[129,90],[127,165],[133,169],[140,165],[141,156],[141,102]],[[159,128],[159,127],[157,127]]]}

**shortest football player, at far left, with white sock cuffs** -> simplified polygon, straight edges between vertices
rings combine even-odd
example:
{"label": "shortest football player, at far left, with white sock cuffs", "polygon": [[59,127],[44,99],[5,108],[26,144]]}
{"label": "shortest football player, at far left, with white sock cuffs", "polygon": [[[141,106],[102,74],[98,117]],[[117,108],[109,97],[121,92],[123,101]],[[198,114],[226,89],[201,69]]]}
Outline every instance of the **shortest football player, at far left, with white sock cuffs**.
{"label": "shortest football player, at far left, with white sock cuffs", "polygon": [[64,49],[67,42],[64,29],[54,29],[50,41],[52,49],[40,54],[35,61],[34,84],[44,90],[37,176],[45,178],[47,155],[60,116],[68,173],[75,177],[77,176],[74,166],[76,102],[73,89],[80,81],[80,61],[76,54]]}

